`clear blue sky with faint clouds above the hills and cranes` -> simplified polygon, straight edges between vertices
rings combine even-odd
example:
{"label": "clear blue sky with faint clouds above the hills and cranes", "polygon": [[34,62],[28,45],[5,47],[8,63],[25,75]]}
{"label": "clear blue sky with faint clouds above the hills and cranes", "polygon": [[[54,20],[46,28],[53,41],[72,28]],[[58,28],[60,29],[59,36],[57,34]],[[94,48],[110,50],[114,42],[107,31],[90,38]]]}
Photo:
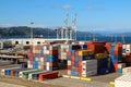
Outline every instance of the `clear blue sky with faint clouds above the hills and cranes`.
{"label": "clear blue sky with faint clouds above the hills and cranes", "polygon": [[68,26],[78,14],[78,30],[131,32],[131,0],[0,0],[0,26],[55,28],[67,13]]}

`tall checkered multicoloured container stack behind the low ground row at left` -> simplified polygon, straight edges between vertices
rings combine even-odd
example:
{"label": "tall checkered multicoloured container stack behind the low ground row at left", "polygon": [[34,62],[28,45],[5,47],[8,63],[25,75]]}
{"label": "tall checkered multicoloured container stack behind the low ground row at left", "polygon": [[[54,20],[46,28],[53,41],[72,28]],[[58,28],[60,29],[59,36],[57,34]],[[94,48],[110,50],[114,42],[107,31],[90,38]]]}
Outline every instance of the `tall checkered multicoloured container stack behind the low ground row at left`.
{"label": "tall checkered multicoloured container stack behind the low ground row at left", "polygon": [[58,45],[31,46],[28,69],[53,71],[59,69]]}

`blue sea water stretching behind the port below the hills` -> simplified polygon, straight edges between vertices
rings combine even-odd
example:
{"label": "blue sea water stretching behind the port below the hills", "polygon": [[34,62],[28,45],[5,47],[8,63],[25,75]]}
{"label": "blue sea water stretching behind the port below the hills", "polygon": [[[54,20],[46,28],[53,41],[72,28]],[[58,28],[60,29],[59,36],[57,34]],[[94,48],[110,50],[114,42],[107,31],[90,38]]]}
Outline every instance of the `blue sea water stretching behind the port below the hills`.
{"label": "blue sea water stretching behind the port below the hills", "polygon": [[[10,37],[10,38],[0,38],[0,39],[27,39],[29,37]],[[56,39],[57,37],[56,36],[46,36],[46,37],[43,37],[45,39]],[[76,36],[76,38],[73,37],[73,39],[76,39],[78,41],[92,41],[92,40],[97,40],[97,41],[108,41],[108,42],[122,42],[122,44],[131,44],[131,36]]]}

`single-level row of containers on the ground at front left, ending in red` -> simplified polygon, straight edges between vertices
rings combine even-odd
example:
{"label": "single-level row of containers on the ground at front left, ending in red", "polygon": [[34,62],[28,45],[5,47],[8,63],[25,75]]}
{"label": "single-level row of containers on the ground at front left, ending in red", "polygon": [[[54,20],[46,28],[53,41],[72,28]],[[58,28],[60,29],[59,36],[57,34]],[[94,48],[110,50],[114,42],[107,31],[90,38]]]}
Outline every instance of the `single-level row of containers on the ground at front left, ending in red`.
{"label": "single-level row of containers on the ground at front left, ending in red", "polygon": [[32,80],[32,79],[44,80],[44,79],[57,78],[59,76],[59,72],[28,70],[28,69],[22,69],[22,67],[10,67],[10,69],[2,69],[1,75],[15,76],[15,77],[25,78],[28,80]]}

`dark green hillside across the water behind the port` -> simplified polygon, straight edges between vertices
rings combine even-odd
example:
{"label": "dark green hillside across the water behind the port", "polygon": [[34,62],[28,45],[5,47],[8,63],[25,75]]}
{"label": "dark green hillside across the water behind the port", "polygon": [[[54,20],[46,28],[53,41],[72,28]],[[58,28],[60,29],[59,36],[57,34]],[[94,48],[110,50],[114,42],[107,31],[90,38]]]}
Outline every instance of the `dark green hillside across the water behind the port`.
{"label": "dark green hillside across the water behind the port", "polygon": [[[40,28],[40,27],[34,27],[33,28],[34,37],[39,37],[43,35],[44,38],[55,38],[56,32],[50,28]],[[84,37],[84,36],[91,36],[92,33],[87,32],[78,32],[78,37]],[[98,34],[95,34],[98,35]],[[0,27],[0,37],[1,38],[10,38],[10,37],[31,37],[31,27],[27,26],[17,26],[17,27]]]}

